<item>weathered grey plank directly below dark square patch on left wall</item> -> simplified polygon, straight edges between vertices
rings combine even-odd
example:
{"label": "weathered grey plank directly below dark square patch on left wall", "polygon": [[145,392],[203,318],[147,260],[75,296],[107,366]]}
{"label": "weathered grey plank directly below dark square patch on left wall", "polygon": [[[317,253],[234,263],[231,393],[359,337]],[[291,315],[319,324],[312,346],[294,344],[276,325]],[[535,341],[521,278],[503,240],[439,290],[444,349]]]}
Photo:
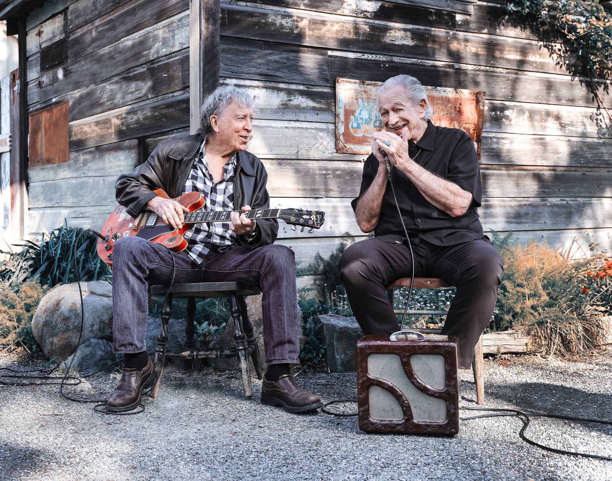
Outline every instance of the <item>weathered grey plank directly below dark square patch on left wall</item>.
{"label": "weathered grey plank directly below dark square patch on left wall", "polygon": [[43,83],[41,87],[28,84],[28,103],[38,103],[84,88],[91,85],[92,80],[99,83],[125,70],[187,48],[188,23],[189,18],[185,13],[70,62],[70,69],[61,81],[49,86]]}

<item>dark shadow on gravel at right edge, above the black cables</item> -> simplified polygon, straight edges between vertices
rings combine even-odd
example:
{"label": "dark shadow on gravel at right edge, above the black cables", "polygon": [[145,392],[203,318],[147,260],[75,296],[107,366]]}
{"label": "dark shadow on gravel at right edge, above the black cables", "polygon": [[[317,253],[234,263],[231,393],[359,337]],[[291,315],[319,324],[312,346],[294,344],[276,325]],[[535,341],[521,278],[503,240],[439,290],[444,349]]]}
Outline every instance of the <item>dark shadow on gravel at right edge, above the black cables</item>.
{"label": "dark shadow on gravel at right edge, above the black cables", "polygon": [[[485,389],[490,391],[487,404],[494,404],[491,398],[498,398],[523,411],[612,420],[611,394],[545,382],[519,382],[512,386],[487,383]],[[611,425],[585,423],[584,427],[612,434]]]}

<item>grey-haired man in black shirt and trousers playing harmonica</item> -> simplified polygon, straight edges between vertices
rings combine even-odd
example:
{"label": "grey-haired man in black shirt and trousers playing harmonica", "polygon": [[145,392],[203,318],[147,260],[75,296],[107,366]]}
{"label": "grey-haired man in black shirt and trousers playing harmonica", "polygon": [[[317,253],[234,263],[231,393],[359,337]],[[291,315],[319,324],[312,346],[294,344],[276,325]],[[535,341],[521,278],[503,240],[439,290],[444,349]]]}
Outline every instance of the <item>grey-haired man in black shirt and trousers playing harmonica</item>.
{"label": "grey-haired man in black shirt and trousers playing harmonica", "polygon": [[463,130],[431,123],[433,110],[414,77],[390,78],[377,100],[386,130],[373,135],[359,197],[352,203],[359,228],[375,237],[351,245],[340,259],[348,300],[364,334],[398,330],[385,286],[409,277],[412,263],[388,183],[388,157],[415,275],[457,286],[442,334],[458,337],[460,367],[468,369],[491,320],[503,272],[477,212],[482,187],[472,140]]}

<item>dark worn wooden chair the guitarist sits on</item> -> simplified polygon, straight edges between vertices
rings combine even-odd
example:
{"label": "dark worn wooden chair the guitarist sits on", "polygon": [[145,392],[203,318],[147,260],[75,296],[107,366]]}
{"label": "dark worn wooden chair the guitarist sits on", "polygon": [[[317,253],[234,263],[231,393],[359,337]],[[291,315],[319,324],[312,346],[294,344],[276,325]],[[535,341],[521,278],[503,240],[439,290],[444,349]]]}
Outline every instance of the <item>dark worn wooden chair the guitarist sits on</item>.
{"label": "dark worn wooden chair the guitarist sits on", "polygon": [[[168,292],[168,286],[151,286],[150,293],[158,296],[165,296]],[[248,356],[251,356],[255,371],[259,379],[263,379],[263,369],[261,367],[261,357],[259,356],[259,346],[253,334],[253,324],[248,319],[247,304],[244,301],[245,296],[256,296],[260,294],[259,288],[249,286],[238,282],[204,282],[193,284],[175,284],[172,286],[168,297],[162,306],[162,328],[157,337],[157,346],[155,347],[154,367],[157,373],[157,382],[152,387],[149,397],[156,398],[159,394],[159,386],[162,381],[163,364],[166,357],[174,357],[184,359],[185,366],[191,368],[194,359],[204,359],[212,357],[237,357],[238,366],[242,374],[242,389],[247,398],[253,396],[251,389],[251,376],[248,366]],[[231,316],[234,319],[234,340],[236,346],[220,349],[195,349],[195,300],[205,299],[206,297],[226,297],[230,299]],[[185,327],[185,335],[187,341],[185,345],[186,351],[183,352],[166,352],[166,341],[168,340],[168,322],[172,314],[173,298],[186,298],[187,300],[187,327]]]}

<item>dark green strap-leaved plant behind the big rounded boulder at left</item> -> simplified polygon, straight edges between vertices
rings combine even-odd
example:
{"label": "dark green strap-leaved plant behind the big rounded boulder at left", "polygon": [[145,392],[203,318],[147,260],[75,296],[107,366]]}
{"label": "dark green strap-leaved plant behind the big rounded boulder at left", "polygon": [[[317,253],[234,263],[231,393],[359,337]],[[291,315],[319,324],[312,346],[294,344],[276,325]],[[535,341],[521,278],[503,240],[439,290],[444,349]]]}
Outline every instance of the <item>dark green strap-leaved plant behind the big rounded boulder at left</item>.
{"label": "dark green strap-leaved plant behind the big rounded boulder at left", "polygon": [[[23,249],[18,253],[1,252],[7,259],[0,262],[0,281],[12,286],[38,277],[41,285],[49,287],[76,282],[73,250],[82,232],[81,228],[62,226],[53,229],[49,236],[42,234],[39,242],[19,244]],[[111,282],[110,269],[96,251],[97,239],[95,234],[85,233],[76,248],[80,280]]]}

